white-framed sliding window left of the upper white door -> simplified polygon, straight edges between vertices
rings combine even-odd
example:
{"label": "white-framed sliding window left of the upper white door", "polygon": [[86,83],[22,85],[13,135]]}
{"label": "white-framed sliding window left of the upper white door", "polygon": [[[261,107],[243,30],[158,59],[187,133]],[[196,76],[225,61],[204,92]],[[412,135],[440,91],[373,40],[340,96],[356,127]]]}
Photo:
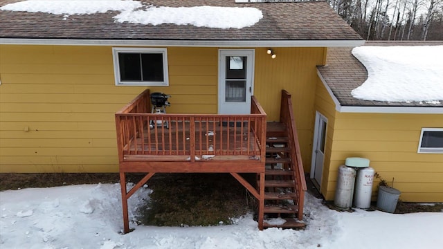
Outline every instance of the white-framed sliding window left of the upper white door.
{"label": "white-framed sliding window left of the upper white door", "polygon": [[166,48],[112,48],[117,86],[168,86]]}

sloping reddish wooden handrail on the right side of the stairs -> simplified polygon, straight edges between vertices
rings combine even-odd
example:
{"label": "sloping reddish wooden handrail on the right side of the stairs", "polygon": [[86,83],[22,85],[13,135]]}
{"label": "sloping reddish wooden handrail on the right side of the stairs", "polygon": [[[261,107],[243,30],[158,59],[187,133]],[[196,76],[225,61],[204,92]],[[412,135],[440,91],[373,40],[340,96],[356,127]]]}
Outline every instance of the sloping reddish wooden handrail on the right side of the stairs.
{"label": "sloping reddish wooden handrail on the right side of the stairs", "polygon": [[306,180],[302,165],[300,145],[296,130],[296,122],[293,118],[291,94],[282,90],[282,103],[280,107],[280,122],[286,124],[288,129],[289,144],[293,149],[291,151],[291,163],[294,178],[296,179],[296,194],[298,199],[298,219],[303,219],[303,203],[305,202]]}

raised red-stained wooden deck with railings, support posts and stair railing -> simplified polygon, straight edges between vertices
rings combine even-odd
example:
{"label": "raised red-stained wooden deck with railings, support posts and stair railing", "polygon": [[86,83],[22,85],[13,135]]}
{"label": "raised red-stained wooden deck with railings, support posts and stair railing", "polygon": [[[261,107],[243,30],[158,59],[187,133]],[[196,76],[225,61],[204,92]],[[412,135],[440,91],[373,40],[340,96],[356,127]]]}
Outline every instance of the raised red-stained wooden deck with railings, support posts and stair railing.
{"label": "raised red-stained wooden deck with railings, support posts and stair railing", "polygon": [[[298,219],[302,218],[305,183],[304,178],[300,178],[304,177],[304,173],[291,115],[290,95],[286,91],[282,91],[282,105],[289,106],[281,111],[287,114],[282,113],[282,124],[270,127],[272,136],[286,136],[284,142],[287,147],[284,148],[270,147],[269,142],[266,146],[266,113],[254,97],[251,99],[251,114],[206,115],[149,113],[149,96],[150,91],[144,91],[116,113],[125,233],[129,232],[127,200],[156,173],[231,174],[257,199],[258,226],[262,230],[266,212],[264,202],[266,196],[270,198],[272,194],[265,194],[265,185],[270,183],[265,176],[265,165],[270,160],[266,158],[266,149],[271,154],[280,151],[280,155],[289,155],[289,160],[283,163],[288,165],[291,173],[287,175],[288,172],[285,172],[285,177],[293,179],[291,186],[295,195],[288,196],[297,199],[294,203],[298,204]],[[272,140],[270,144],[275,142],[280,141]],[[276,162],[275,158],[272,160],[272,163]],[[126,174],[130,172],[146,175],[128,191]],[[251,185],[239,173],[255,173],[257,185]],[[268,183],[265,184],[265,181]],[[271,196],[269,200],[273,199]]]}

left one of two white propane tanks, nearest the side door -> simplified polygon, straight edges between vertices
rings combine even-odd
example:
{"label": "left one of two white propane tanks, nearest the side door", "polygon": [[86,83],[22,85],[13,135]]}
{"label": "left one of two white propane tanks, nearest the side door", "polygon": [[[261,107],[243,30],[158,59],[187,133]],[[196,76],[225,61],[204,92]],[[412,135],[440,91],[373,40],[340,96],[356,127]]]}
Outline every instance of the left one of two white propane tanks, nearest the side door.
{"label": "left one of two white propane tanks, nearest the side door", "polygon": [[341,165],[338,167],[337,186],[335,190],[334,204],[337,208],[349,209],[354,195],[356,170]]}

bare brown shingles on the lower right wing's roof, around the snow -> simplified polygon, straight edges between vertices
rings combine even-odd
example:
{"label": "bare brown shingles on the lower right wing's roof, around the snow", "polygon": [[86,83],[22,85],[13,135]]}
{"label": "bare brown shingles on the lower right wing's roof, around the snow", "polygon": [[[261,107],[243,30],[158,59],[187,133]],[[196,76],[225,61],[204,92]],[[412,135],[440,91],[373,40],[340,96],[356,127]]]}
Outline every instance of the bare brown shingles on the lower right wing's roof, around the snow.
{"label": "bare brown shingles on the lower right wing's roof, around the snow", "polygon": [[[443,42],[386,42],[371,41],[364,46],[426,46],[443,45]],[[352,48],[328,48],[325,66],[318,66],[318,71],[329,89],[342,106],[350,107],[443,107],[440,104],[426,102],[383,102],[359,100],[351,91],[361,86],[368,78],[368,71],[351,53]]]}

